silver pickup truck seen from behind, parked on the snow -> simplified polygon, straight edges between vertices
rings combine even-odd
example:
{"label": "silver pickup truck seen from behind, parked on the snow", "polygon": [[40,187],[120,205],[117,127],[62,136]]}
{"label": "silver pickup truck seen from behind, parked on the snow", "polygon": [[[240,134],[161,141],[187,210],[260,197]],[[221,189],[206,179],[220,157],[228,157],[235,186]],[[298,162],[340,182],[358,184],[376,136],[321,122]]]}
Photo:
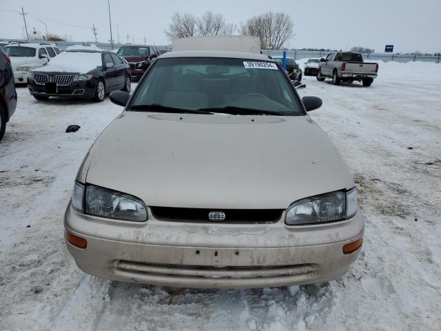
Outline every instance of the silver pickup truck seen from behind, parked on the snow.
{"label": "silver pickup truck seen from behind, parked on the snow", "polygon": [[360,53],[332,52],[326,59],[320,59],[317,80],[324,81],[326,77],[331,77],[334,85],[340,84],[341,81],[361,81],[363,86],[371,86],[377,72],[378,63],[363,62]]}

